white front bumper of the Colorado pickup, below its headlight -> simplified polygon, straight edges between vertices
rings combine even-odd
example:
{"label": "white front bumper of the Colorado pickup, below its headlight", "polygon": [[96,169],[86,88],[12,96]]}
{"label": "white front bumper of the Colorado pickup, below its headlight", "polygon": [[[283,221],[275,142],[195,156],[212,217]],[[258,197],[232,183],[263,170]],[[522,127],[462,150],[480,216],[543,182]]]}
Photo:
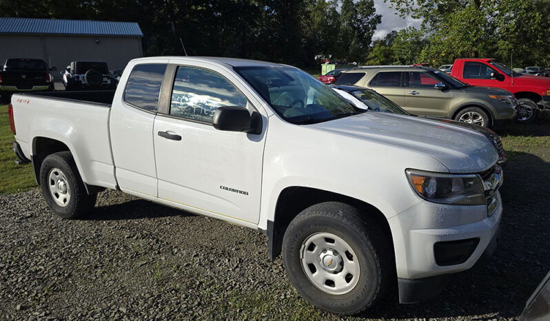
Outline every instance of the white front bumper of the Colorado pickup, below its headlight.
{"label": "white front bumper of the Colorado pickup, below its headlight", "polygon": [[[490,215],[487,205],[457,206],[422,201],[389,218],[399,291],[403,293],[400,294],[403,299],[401,302],[427,299],[426,296],[414,297],[414,293],[418,292],[416,287],[424,287],[422,284],[429,280],[427,282],[442,289],[446,284],[443,280],[445,275],[471,269],[480,258],[487,256],[486,250],[492,253],[492,243],[496,242],[493,239],[498,234],[502,216],[500,194],[496,192],[495,197],[496,207]],[[462,259],[453,262],[452,256],[451,260],[436,258],[436,244],[453,244],[464,240],[476,240],[476,245],[466,255],[464,249],[461,249],[459,254]],[[429,293],[437,294],[434,289]]]}

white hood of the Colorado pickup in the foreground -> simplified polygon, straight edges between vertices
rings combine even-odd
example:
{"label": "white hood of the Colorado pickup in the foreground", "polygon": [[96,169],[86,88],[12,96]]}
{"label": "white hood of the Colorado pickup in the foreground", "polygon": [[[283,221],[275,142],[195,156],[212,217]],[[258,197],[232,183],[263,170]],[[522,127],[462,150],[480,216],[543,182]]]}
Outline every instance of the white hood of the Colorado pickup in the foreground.
{"label": "white hood of the Colorado pickup in the foreground", "polygon": [[306,126],[427,154],[451,173],[482,172],[498,161],[496,149],[483,134],[426,118],[365,112]]}

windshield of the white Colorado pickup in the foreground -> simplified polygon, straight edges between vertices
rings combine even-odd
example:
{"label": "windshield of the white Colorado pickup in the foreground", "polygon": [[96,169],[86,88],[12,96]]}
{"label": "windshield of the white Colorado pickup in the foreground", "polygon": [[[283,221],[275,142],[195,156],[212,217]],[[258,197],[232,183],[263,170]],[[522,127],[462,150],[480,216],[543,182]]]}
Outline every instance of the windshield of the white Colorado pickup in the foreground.
{"label": "windshield of the white Colorado pickup in the foreground", "polygon": [[289,123],[321,123],[365,112],[298,68],[254,66],[234,70]]}

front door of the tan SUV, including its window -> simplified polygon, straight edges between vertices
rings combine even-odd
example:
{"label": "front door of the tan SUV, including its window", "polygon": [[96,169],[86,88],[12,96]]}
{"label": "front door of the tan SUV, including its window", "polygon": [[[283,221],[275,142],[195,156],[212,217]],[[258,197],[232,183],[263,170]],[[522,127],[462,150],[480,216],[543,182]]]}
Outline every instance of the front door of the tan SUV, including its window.
{"label": "front door of the tan SUV, including its window", "polygon": [[445,117],[449,111],[451,90],[436,90],[441,81],[429,72],[407,72],[405,110],[415,115]]}

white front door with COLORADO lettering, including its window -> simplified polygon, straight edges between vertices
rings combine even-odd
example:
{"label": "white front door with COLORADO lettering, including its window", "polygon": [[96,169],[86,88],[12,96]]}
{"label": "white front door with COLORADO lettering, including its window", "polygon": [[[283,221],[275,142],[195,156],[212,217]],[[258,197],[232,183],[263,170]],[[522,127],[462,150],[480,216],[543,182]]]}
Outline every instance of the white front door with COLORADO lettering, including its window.
{"label": "white front door with COLORADO lettering, including its window", "polygon": [[256,224],[265,132],[216,130],[212,116],[221,106],[254,111],[225,76],[207,68],[177,68],[170,110],[154,121],[159,198],[203,214]]}

